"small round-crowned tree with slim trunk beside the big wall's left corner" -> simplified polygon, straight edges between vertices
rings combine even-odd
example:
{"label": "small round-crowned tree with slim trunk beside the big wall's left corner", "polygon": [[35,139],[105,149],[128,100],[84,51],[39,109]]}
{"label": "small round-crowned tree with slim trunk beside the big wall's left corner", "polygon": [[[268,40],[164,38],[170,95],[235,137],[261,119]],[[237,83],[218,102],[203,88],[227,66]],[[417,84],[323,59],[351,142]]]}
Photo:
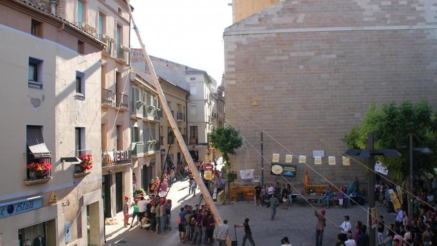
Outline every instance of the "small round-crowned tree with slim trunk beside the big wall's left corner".
{"label": "small round-crowned tree with slim trunk beside the big wall's left corner", "polygon": [[235,155],[235,149],[243,144],[240,133],[231,126],[217,127],[208,133],[208,139],[213,148],[223,156],[223,168],[227,170],[224,177],[227,180],[227,199],[230,201],[230,183],[235,181],[235,176],[230,172],[229,155]]}

